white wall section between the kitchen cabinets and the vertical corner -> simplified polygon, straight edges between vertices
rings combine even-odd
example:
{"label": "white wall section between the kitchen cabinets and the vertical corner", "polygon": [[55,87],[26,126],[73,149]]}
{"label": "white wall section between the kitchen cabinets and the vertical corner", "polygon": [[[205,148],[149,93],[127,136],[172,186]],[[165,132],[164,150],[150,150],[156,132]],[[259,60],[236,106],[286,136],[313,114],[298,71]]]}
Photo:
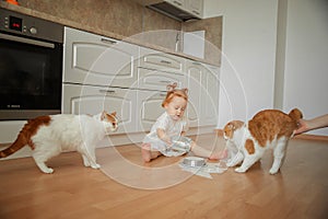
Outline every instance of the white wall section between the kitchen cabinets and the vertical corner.
{"label": "white wall section between the kitchen cabinets and the vertical corner", "polygon": [[223,15],[218,128],[272,108],[278,0],[204,0],[204,11]]}

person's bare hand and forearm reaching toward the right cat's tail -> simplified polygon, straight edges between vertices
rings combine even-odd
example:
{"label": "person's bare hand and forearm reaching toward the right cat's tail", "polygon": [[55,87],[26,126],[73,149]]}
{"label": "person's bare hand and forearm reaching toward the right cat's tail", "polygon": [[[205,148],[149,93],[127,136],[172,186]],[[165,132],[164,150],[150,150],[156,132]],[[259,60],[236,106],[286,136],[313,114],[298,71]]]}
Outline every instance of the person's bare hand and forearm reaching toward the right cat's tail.
{"label": "person's bare hand and forearm reaching toward the right cat's tail", "polygon": [[315,117],[313,119],[301,119],[295,134],[302,134],[309,130],[328,127],[328,114]]}

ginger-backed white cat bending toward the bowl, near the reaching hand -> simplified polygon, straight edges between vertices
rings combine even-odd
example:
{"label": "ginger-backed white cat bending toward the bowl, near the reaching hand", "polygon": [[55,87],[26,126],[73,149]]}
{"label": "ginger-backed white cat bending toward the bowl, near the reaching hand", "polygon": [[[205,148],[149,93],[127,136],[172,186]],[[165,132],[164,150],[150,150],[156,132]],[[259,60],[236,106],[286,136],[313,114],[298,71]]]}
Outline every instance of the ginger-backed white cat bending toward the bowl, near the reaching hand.
{"label": "ginger-backed white cat bending toward the bowl, near the reaching hand", "polygon": [[297,129],[302,113],[294,108],[290,114],[277,110],[257,113],[247,124],[241,120],[230,122],[223,134],[229,151],[227,166],[242,163],[235,171],[246,172],[257,162],[267,149],[273,149],[273,164],[270,174],[276,174],[284,160],[286,145]]}

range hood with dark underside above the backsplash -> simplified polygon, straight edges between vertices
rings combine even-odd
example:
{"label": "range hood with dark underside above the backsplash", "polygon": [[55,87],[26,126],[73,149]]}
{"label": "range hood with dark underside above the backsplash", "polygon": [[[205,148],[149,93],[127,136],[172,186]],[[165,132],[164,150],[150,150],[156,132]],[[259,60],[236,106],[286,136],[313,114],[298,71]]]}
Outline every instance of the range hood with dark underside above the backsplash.
{"label": "range hood with dark underside above the backsplash", "polygon": [[137,0],[142,5],[163,13],[178,21],[200,20],[201,18],[189,12],[184,5],[175,5],[167,0]]}

